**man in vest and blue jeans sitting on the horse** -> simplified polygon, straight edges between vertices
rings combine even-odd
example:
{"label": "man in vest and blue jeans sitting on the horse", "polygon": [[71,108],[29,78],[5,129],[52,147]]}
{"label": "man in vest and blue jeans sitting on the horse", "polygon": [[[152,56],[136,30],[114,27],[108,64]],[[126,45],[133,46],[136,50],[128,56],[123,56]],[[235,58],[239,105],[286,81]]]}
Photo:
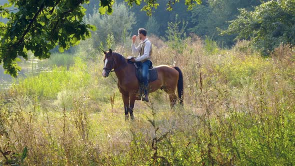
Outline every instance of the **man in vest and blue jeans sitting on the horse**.
{"label": "man in vest and blue jeans sitting on the horse", "polygon": [[142,79],[144,84],[144,96],[142,97],[143,101],[148,102],[148,67],[151,66],[150,56],[152,52],[151,43],[146,37],[146,30],[143,28],[138,29],[138,37],[141,40],[139,45],[135,47],[136,35],[132,36],[132,53],[138,53],[137,58],[131,59],[132,62],[140,61],[142,68]]}

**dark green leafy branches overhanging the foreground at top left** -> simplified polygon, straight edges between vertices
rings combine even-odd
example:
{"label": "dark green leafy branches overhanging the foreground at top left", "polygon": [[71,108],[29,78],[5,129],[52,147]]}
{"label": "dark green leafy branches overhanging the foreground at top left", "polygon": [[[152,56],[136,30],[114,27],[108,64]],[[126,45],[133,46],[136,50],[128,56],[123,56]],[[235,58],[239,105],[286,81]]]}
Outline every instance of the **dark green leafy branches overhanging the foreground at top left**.
{"label": "dark green leafy branches overhanging the foreground at top left", "polygon": [[[140,4],[140,0],[125,0],[128,5]],[[80,40],[90,36],[88,29],[94,26],[82,21],[85,8],[82,6],[89,0],[9,0],[0,5],[0,16],[8,19],[7,23],[0,23],[0,62],[5,72],[17,75],[20,67],[17,56],[27,58],[27,51],[31,50],[39,58],[48,58],[49,50],[56,45],[59,51],[76,45]],[[114,0],[100,0],[99,12],[112,12]],[[169,0],[168,9],[178,0]],[[156,0],[146,0],[145,10],[148,15],[158,6]],[[200,0],[185,0],[190,9]],[[17,8],[16,12],[7,7]]]}

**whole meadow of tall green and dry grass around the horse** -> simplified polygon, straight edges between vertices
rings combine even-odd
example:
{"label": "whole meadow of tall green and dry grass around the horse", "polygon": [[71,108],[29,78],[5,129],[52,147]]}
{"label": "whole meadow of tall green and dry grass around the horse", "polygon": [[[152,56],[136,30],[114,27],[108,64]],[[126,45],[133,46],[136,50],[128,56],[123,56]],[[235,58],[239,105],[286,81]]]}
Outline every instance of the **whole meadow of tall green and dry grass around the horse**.
{"label": "whole meadow of tall green and dry grass around the horse", "polygon": [[232,49],[196,36],[183,42],[174,55],[157,41],[152,61],[182,70],[184,107],[171,109],[159,90],[152,104],[135,102],[134,121],[124,120],[115,81],[100,76],[99,53],[78,52],[68,68],[12,85],[0,95],[0,164],[294,164],[294,49],[265,58],[246,41]]}

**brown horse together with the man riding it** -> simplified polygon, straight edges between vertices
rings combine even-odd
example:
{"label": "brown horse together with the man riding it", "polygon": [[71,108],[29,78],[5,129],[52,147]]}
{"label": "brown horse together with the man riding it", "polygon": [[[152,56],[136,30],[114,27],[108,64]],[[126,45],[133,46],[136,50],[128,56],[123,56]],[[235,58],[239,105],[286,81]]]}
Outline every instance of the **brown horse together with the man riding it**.
{"label": "brown horse together with the man riding it", "polygon": [[[143,90],[145,94],[143,100],[148,102],[148,92],[162,89],[169,95],[171,107],[173,107],[178,100],[179,103],[183,105],[183,75],[180,68],[177,66],[161,64],[154,66],[154,68],[150,70],[150,75],[148,75],[148,67],[151,66],[151,61],[149,60],[151,55],[151,43],[146,38],[145,29],[138,29],[138,36],[142,41],[137,47],[135,47],[134,44],[136,35],[132,36],[132,52],[138,52],[138,56],[137,58],[131,58],[131,61],[142,63],[141,68],[143,70],[142,75],[145,86]],[[108,52],[103,51],[103,53],[104,65],[101,74],[103,77],[107,77],[110,72],[115,72],[118,78],[117,86],[122,94],[122,100],[124,102],[125,119],[128,119],[128,114],[130,114],[131,119],[134,119],[134,102],[139,98],[138,89],[140,89],[141,86],[141,79],[139,82],[139,79],[136,76],[138,75],[136,74],[136,67],[133,63],[129,63],[128,59],[123,55],[113,52],[111,49],[109,49]],[[150,78],[148,76],[150,76]],[[150,80],[148,80],[148,78]],[[176,88],[178,96],[175,93]]]}

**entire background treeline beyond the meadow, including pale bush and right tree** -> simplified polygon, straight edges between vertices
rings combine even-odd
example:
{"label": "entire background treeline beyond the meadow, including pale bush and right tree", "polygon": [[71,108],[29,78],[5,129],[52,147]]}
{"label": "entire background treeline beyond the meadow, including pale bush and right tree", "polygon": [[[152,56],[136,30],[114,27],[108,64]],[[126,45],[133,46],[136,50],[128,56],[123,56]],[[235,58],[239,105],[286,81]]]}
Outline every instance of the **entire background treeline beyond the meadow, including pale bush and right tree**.
{"label": "entire background treeline beyond the meadow, including pale bush and right tree", "polygon": [[93,48],[125,45],[132,34],[137,34],[139,27],[164,41],[170,39],[171,31],[178,30],[181,35],[174,38],[194,34],[223,48],[247,39],[262,55],[269,55],[280,44],[295,43],[292,37],[295,34],[294,0],[202,0],[200,5],[188,11],[183,2],[175,3],[172,11],[166,10],[168,0],[158,2],[152,16],[140,11],[143,3],[130,7],[124,0],[115,1],[111,15],[100,15],[99,0],[89,0],[84,4],[87,9],[85,21],[95,25],[96,30],[87,44]]}

